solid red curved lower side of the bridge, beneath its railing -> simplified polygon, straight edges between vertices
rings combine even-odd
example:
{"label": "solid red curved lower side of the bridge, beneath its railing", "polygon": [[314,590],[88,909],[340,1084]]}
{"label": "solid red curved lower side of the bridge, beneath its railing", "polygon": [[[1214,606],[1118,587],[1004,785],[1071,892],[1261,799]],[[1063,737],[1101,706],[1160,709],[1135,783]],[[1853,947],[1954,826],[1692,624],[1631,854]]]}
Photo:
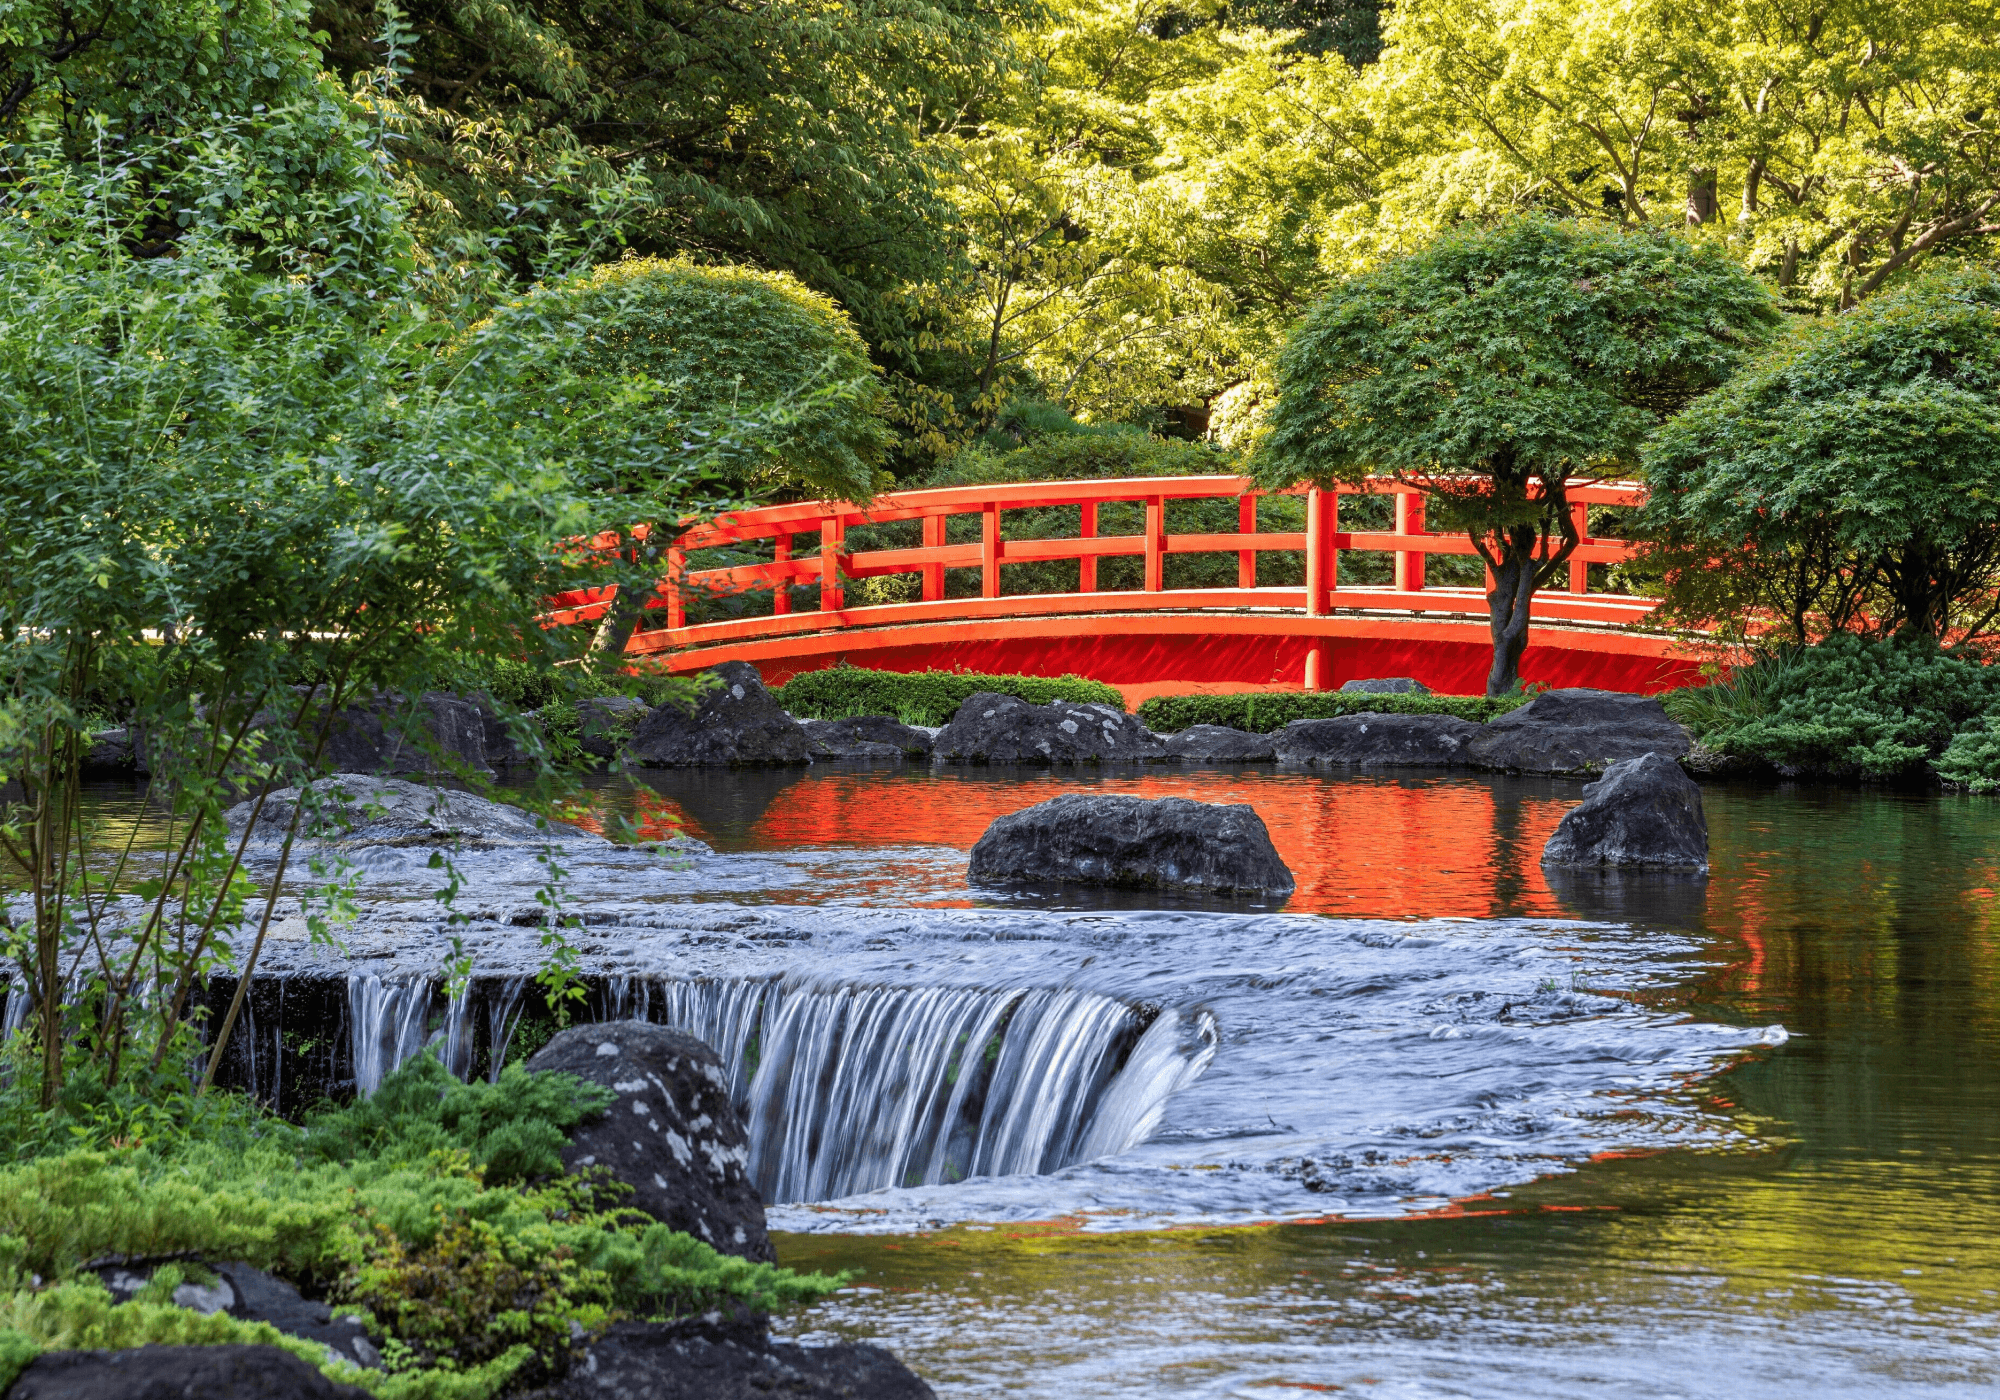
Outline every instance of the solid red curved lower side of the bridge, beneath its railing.
{"label": "solid red curved lower side of the bridge, beneath its railing", "polygon": [[[652,650],[644,638],[634,638],[634,652]],[[1136,706],[1160,694],[1300,690],[1314,646],[1324,648],[1322,690],[1370,676],[1412,676],[1440,694],[1482,694],[1492,664],[1486,624],[1472,618],[1212,612],[908,622],[726,640],[658,660],[676,672],[744,660],[772,686],[840,662],[904,672],[1076,674],[1118,686]],[[1698,666],[1700,658],[1666,636],[1536,626],[1520,674],[1550,686],[1652,694],[1692,682]]]}

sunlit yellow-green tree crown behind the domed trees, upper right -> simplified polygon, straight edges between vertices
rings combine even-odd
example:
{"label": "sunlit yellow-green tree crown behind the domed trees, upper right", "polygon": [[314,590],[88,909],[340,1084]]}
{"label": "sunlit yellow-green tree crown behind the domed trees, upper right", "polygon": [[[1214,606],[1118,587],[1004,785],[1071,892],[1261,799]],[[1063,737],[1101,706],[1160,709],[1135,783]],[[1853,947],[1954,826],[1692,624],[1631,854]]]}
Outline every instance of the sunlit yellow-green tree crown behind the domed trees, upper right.
{"label": "sunlit yellow-green tree crown behind the domed trees, upper right", "polygon": [[1992,0],[1404,0],[1382,38],[1390,248],[1466,212],[1688,224],[1846,306],[2000,232]]}

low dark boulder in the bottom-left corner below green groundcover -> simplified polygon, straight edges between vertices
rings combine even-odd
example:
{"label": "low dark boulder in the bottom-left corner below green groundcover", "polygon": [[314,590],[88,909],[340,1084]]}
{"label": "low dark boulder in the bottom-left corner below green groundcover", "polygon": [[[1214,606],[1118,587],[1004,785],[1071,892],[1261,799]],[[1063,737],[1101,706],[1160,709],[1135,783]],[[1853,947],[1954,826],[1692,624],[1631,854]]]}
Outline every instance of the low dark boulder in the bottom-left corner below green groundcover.
{"label": "low dark boulder in the bottom-left corner below green groundcover", "polygon": [[6,1400],[368,1400],[278,1346],[134,1346],[46,1352]]}

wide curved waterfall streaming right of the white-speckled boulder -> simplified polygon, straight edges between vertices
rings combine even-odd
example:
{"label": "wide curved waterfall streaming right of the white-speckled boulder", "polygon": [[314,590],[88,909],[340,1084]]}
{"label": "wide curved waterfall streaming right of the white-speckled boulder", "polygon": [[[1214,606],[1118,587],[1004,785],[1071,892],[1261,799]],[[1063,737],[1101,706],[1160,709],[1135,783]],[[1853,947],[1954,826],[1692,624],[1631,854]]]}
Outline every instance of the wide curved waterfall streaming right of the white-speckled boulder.
{"label": "wide curved waterfall streaming right of the white-speckled boulder", "polygon": [[716,1046],[768,1202],[1052,1172],[1122,1152],[1214,1052],[1206,1014],[1078,990],[666,982]]}

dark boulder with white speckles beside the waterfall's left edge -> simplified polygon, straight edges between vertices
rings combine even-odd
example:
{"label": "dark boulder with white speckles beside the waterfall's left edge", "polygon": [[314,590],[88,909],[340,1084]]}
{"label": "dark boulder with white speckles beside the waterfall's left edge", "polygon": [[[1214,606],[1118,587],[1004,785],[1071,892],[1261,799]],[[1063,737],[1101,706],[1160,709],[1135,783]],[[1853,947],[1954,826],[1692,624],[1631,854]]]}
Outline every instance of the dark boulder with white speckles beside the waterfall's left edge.
{"label": "dark boulder with white speckles beside the waterfall's left edge", "polygon": [[618,1094],[602,1118],[570,1134],[564,1166],[608,1168],[632,1188],[628,1206],[724,1254],[778,1258],[750,1180],[750,1136],[714,1050],[666,1026],[614,1020],[556,1032],[528,1068]]}

